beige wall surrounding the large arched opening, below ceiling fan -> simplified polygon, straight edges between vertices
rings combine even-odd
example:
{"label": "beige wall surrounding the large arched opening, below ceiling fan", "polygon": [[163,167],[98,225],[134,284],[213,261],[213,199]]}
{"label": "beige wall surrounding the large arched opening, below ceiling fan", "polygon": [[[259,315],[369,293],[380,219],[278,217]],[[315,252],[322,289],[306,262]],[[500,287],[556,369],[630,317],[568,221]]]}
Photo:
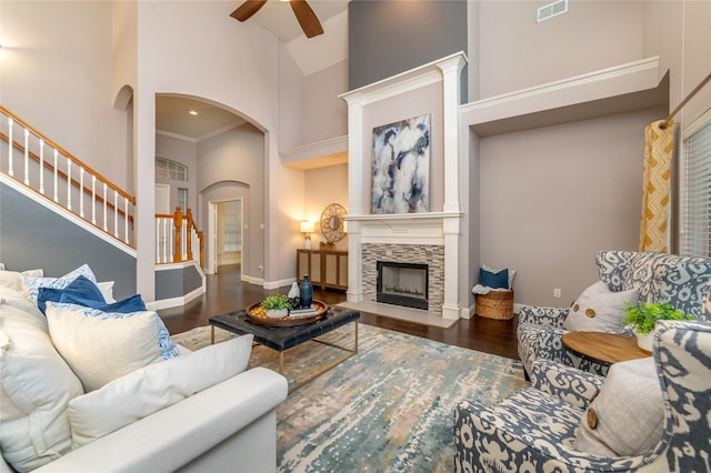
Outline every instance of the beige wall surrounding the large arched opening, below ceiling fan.
{"label": "beige wall surrounding the large arched opening, below ceiling fan", "polygon": [[[291,172],[279,163],[278,41],[256,23],[234,21],[229,17],[232,9],[233,6],[221,1],[139,2],[137,159],[139,167],[152,161],[156,93],[181,93],[212,100],[249,117],[266,132],[266,201],[277,209],[282,205],[288,209],[290,202],[301,199],[302,188],[291,185]],[[168,54],[167,51],[180,53]],[[141,169],[139,181],[141,179],[146,182],[139,189],[149,182],[152,187],[153,171],[148,165]],[[148,225],[150,220],[150,215],[139,215],[139,225]],[[268,212],[264,225],[266,283],[293,278],[292,268],[282,268],[274,262],[290,258],[296,241],[289,246],[273,236],[290,232],[291,221],[284,212]],[[148,238],[148,234],[141,235],[141,241],[147,243]],[[149,281],[139,281],[139,288],[149,284]]]}

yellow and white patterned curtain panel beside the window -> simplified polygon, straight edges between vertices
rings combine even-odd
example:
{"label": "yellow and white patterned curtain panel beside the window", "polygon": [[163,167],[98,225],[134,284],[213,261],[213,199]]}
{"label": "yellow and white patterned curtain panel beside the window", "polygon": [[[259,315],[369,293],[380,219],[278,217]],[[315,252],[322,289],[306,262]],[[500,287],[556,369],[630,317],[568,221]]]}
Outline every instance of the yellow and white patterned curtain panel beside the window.
{"label": "yellow and white patterned curtain panel beside the window", "polygon": [[667,252],[667,222],[671,190],[671,158],[674,150],[673,122],[650,123],[644,129],[644,168],[642,171],[642,221],[640,251]]}

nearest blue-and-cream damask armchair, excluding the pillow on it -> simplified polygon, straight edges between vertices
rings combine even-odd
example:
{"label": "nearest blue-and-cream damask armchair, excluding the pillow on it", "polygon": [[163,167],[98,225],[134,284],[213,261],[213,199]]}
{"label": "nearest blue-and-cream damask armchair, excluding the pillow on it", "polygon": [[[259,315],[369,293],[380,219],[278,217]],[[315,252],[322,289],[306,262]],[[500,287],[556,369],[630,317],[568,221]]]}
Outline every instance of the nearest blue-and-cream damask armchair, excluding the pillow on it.
{"label": "nearest blue-and-cream damask armchair, excluding the pillow on it", "polygon": [[[661,322],[654,340],[654,364],[661,385],[659,404],[663,404],[663,420],[660,413],[663,432],[661,441],[655,445],[652,443],[654,446],[642,454],[605,456],[577,450],[574,439],[581,429],[581,419],[592,394],[605,379],[539,360],[531,373],[535,388],[519,391],[493,406],[475,401],[458,405],[454,413],[455,470],[709,471],[711,323]],[[608,378],[607,382],[610,380]],[[633,388],[631,384],[624,381],[621,388],[629,390]]]}

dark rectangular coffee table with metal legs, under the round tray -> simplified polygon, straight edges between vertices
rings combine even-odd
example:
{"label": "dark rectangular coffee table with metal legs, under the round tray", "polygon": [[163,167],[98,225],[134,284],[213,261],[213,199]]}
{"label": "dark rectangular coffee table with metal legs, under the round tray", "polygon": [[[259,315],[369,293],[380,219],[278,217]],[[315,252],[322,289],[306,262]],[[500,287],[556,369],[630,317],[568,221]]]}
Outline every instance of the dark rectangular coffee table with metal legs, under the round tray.
{"label": "dark rectangular coffee table with metal legs, under the round tray", "polygon": [[[289,389],[289,393],[298,390],[302,385],[313,381],[316,378],[341,364],[349,358],[358,353],[358,319],[360,312],[346,308],[329,308],[323,318],[317,322],[296,326],[270,326],[252,323],[247,318],[244,310],[230,312],[222,315],[214,315],[209,319],[211,331],[211,342],[214,343],[214,328],[230,331],[238,334],[251,333],[254,342],[279,352],[279,374],[284,374],[284,352],[304,342],[313,341],[329,346],[337,348],[346,352],[346,355],[327,363],[313,376],[304,380]],[[317,339],[339,326],[353,322],[353,348],[346,348]]]}

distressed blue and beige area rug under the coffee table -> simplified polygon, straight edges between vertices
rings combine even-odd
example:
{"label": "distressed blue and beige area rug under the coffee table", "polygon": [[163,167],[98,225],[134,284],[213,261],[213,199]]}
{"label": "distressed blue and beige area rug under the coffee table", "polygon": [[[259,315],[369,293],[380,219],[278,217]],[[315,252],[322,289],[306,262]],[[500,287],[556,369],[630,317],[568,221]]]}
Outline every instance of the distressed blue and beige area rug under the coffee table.
{"label": "distressed blue and beige area rug under the coffee table", "polygon": [[[231,336],[216,329],[216,342]],[[352,346],[352,324],[327,338]],[[210,343],[210,329],[173,340],[196,350]],[[290,385],[341,354],[313,342],[287,352]],[[256,346],[250,366],[277,370],[277,362]],[[453,471],[457,403],[495,403],[527,385],[519,361],[359,324],[359,353],[279,407],[279,471]]]}

